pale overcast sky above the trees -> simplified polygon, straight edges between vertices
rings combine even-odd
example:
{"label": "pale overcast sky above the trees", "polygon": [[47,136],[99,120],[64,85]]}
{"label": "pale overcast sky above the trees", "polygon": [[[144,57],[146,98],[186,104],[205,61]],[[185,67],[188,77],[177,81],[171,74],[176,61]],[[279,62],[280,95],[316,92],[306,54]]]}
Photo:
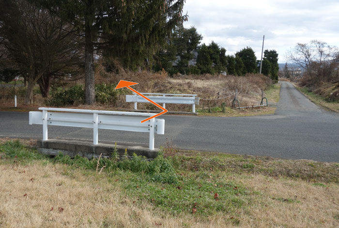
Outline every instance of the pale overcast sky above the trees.
{"label": "pale overcast sky above the trees", "polygon": [[296,43],[317,39],[339,46],[339,0],[186,0],[186,28],[194,26],[206,45],[215,41],[234,54],[250,46],[261,58],[274,49],[279,63]]}

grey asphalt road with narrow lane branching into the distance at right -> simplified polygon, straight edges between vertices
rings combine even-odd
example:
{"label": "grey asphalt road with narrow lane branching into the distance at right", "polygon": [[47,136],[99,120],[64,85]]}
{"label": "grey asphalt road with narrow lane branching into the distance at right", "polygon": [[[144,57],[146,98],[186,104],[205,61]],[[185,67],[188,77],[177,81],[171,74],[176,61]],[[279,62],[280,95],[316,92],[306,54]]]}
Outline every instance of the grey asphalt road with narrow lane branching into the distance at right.
{"label": "grey asphalt road with narrow lane branching into the distance at right", "polygon": [[[0,112],[0,137],[42,138],[42,125],[29,125],[28,113]],[[255,117],[162,116],[167,140],[177,148],[339,162],[339,115],[308,100],[282,82],[274,115]],[[92,129],[48,127],[48,137],[92,140]],[[99,130],[100,142],[128,142],[148,147],[148,133]]]}

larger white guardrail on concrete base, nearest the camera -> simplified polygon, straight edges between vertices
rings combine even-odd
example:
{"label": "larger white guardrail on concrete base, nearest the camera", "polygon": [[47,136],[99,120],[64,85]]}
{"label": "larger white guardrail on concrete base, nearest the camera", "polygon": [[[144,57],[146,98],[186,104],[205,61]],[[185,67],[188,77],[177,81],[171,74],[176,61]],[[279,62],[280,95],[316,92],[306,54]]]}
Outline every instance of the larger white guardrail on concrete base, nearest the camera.
{"label": "larger white guardrail on concrete base, nearest the camera", "polygon": [[[103,110],[86,110],[70,108],[39,107],[39,111],[30,112],[30,124],[43,125],[43,140],[46,141],[47,126],[67,126],[93,128],[93,144],[98,144],[98,129],[149,132],[149,149],[154,150],[154,133],[164,135],[165,120],[151,119],[141,123],[145,118],[134,116],[153,116],[153,113],[118,112]],[[62,111],[62,112],[50,112]],[[125,116],[126,115],[126,116]],[[127,116],[128,115],[128,116]],[[131,117],[132,116],[132,117]]]}

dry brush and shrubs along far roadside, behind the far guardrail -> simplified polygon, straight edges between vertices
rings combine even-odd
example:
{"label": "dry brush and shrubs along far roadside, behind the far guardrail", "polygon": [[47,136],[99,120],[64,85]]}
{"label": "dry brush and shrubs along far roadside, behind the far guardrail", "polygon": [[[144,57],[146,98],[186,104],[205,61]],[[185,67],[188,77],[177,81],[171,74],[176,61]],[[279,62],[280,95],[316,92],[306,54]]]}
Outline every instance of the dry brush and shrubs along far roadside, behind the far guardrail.
{"label": "dry brush and shrubs along far roadside, behind the far guardrail", "polygon": [[[106,109],[106,110],[131,110],[133,103],[125,102],[125,95],[131,94],[127,89],[114,90],[120,79],[128,81],[143,81],[134,88],[141,92],[157,93],[185,93],[197,94],[200,97],[200,105],[196,106],[199,115],[216,116],[244,116],[263,115],[274,113],[274,108],[250,108],[232,109],[232,101],[238,90],[237,99],[241,106],[255,106],[261,102],[262,91],[269,102],[277,100],[279,88],[272,86],[269,77],[260,74],[247,74],[246,76],[224,75],[191,75],[169,76],[167,72],[131,72],[120,69],[120,72],[107,72],[106,68],[99,64],[96,68],[95,99],[92,106],[85,105],[85,89],[82,79],[55,84],[50,89],[50,95],[43,98],[40,90],[33,90],[33,104],[22,105],[26,93],[25,87],[4,87],[0,91],[1,110],[36,110],[39,106],[56,106],[67,108]],[[18,108],[14,106],[14,95],[17,95]],[[189,105],[168,104],[170,111],[191,111]],[[155,110],[152,104],[139,103],[139,110]]]}

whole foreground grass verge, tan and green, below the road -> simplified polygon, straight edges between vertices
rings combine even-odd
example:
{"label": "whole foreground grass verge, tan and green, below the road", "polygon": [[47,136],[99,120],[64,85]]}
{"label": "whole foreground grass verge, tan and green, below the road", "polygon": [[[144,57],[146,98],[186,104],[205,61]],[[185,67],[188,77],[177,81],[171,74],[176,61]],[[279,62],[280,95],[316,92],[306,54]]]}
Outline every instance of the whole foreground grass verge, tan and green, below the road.
{"label": "whole foreground grass verge, tan and green, below the road", "polygon": [[1,227],[338,227],[339,164],[163,149],[152,162],[0,145]]}

